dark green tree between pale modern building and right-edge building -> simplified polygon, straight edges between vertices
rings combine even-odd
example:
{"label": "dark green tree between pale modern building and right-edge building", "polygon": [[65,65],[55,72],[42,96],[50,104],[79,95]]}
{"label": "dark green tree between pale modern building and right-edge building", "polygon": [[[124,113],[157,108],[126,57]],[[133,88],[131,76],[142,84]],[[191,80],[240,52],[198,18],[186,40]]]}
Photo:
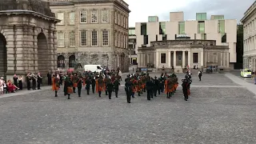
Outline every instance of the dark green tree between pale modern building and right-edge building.
{"label": "dark green tree between pale modern building and right-edge building", "polygon": [[241,24],[238,25],[237,29],[237,64],[239,68],[242,68],[242,55],[243,55],[243,26]]}

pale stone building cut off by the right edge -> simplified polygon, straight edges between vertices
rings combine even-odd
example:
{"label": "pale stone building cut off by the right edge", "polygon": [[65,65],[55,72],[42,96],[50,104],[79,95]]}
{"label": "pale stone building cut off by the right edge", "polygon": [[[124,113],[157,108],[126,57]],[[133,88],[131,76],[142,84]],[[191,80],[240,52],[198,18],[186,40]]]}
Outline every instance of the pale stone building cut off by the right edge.
{"label": "pale stone building cut off by the right edge", "polygon": [[244,13],[243,68],[256,70],[256,2]]}

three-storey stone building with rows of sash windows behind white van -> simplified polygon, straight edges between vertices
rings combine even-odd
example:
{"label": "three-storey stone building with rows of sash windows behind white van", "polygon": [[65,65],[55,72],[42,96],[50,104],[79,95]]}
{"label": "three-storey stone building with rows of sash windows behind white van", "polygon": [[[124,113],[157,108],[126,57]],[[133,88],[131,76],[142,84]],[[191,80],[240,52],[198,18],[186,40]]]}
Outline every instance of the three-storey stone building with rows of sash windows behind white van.
{"label": "three-storey stone building with rows of sash windows behind white van", "polygon": [[56,26],[59,69],[73,69],[79,62],[128,70],[130,10],[126,2],[52,0],[50,9],[62,20]]}

